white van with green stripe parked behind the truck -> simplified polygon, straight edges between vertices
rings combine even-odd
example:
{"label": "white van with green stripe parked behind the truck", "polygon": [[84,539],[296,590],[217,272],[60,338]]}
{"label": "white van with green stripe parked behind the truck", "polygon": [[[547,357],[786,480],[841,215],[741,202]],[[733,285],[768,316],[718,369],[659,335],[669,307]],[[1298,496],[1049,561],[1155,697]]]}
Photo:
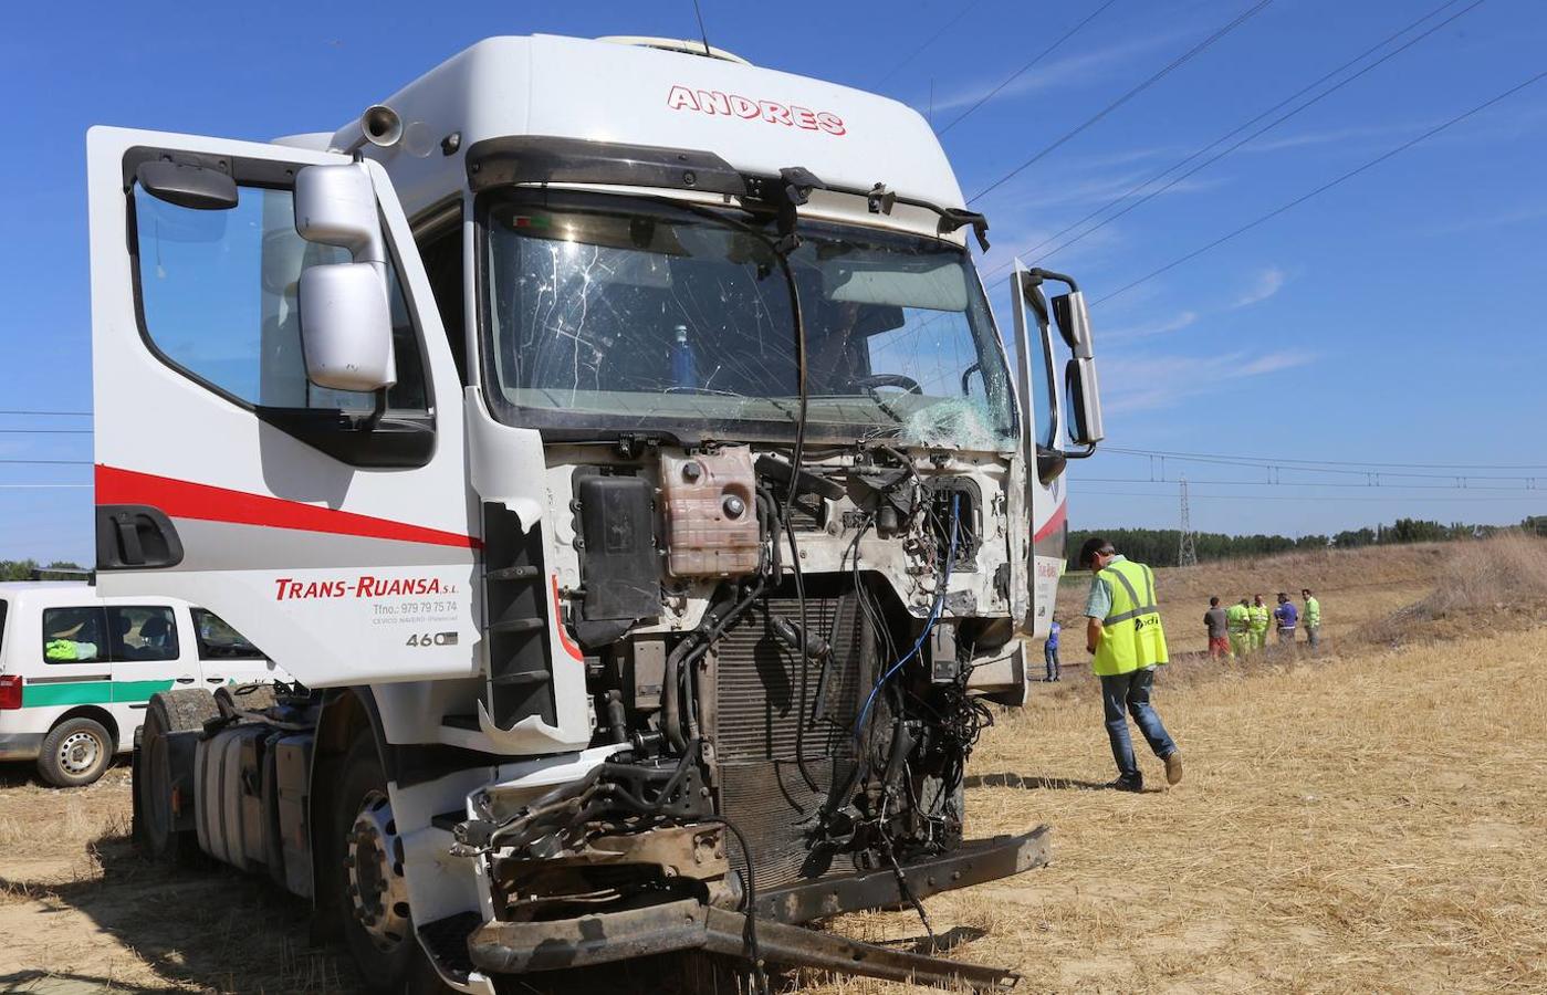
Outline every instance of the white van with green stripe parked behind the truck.
{"label": "white van with green stripe parked behind the truck", "polygon": [[37,760],[62,788],[127,754],[150,696],[288,679],[213,613],[172,597],[97,597],[85,583],[0,583],[0,760]]}

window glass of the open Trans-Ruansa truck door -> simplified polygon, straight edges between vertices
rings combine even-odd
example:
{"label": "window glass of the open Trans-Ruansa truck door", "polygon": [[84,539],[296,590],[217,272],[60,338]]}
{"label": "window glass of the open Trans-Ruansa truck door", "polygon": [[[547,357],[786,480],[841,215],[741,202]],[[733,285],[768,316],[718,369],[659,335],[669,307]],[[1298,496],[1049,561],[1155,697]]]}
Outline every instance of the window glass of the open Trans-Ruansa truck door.
{"label": "window glass of the open Trans-Ruansa truck door", "polygon": [[[368,412],[370,393],[306,379],[300,344],[300,271],[347,263],[345,249],[295,234],[289,190],[241,186],[229,210],[195,210],[139,186],[131,201],[141,334],[164,362],[248,407]],[[391,316],[398,384],[390,409],[424,412],[424,357],[396,266]]]}

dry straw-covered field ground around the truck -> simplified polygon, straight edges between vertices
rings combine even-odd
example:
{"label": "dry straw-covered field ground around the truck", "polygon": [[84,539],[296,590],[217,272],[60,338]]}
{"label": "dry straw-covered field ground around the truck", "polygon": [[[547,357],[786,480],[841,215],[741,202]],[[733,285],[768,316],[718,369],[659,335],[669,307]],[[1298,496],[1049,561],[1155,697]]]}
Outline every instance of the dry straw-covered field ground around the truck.
{"label": "dry straw-covered field ground around the truck", "polygon": [[[1071,625],[1066,681],[999,716],[967,792],[972,836],[1049,823],[1054,863],[927,899],[954,955],[1019,970],[1021,992],[1547,990],[1547,614],[1371,644],[1361,628],[1428,594],[1446,557],[1386,552],[1162,573],[1176,662],[1156,704],[1187,768],[1170,789],[1149,757],[1145,794],[1100,789],[1112,761]],[[1258,585],[1318,588],[1320,658],[1193,655],[1207,594]],[[1061,600],[1071,617],[1081,586]],[[354,990],[308,941],[303,904],[218,868],[141,863],[127,831],[125,766],[74,791],[0,768],[0,992]],[[831,928],[922,938],[902,913]]]}

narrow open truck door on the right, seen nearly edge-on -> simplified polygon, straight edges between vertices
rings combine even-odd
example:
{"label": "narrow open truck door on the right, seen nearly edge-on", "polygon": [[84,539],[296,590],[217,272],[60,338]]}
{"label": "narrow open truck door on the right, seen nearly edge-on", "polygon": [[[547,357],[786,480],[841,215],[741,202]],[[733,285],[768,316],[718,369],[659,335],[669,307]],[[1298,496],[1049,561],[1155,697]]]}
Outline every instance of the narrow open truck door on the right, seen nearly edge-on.
{"label": "narrow open truck door on the right, seen nearly edge-on", "polygon": [[1063,422],[1060,392],[1054,378],[1052,334],[1047,299],[1015,260],[1010,280],[1010,311],[1015,328],[1015,393],[1021,413],[1021,458],[1026,464],[1026,512],[1030,537],[1024,563],[1030,603],[1026,633],[1043,639],[1052,624],[1058,577],[1064,565],[1067,498],[1064,456],[1058,449]]}

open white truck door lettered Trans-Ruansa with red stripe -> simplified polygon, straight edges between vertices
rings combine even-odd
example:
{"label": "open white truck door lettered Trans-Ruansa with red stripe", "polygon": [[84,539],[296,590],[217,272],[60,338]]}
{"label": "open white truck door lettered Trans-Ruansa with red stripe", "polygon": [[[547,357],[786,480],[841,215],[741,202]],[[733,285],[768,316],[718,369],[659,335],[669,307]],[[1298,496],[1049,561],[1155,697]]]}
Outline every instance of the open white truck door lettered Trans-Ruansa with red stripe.
{"label": "open white truck door lettered Trans-Ruansa with red stripe", "polygon": [[314,687],[475,673],[459,385],[381,166],[102,127],[87,159],[101,593]]}

